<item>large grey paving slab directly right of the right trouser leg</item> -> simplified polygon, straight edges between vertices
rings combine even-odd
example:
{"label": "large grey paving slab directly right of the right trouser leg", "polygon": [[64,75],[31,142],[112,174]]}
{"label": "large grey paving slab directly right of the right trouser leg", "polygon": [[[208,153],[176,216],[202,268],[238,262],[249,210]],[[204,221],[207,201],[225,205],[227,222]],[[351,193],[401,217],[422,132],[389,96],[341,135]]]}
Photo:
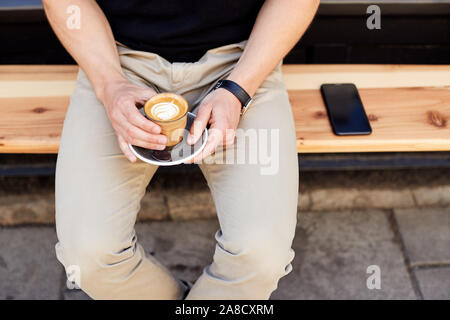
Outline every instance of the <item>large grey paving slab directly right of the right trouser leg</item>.
{"label": "large grey paving slab directly right of the right trouser leg", "polygon": [[[387,216],[379,210],[305,212],[294,239],[293,271],[273,299],[415,299]],[[367,268],[381,289],[367,288]]]}

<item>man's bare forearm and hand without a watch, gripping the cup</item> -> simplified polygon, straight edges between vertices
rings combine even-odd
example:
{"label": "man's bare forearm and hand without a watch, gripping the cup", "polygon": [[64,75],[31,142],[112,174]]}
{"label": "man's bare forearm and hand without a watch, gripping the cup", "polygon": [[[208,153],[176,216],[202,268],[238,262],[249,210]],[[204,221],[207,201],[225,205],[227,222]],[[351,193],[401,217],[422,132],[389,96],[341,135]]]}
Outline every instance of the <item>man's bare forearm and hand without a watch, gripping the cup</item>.
{"label": "man's bare forearm and hand without a watch, gripping the cup", "polygon": [[163,149],[167,138],[161,128],[146,119],[136,108],[156,94],[128,81],[120,65],[117,45],[108,20],[94,0],[75,1],[86,19],[74,32],[67,28],[66,9],[73,0],[43,0],[45,13],[58,38],[78,65],[86,72],[95,94],[105,106],[117,133],[120,149],[131,162],[136,157],[128,143]]}

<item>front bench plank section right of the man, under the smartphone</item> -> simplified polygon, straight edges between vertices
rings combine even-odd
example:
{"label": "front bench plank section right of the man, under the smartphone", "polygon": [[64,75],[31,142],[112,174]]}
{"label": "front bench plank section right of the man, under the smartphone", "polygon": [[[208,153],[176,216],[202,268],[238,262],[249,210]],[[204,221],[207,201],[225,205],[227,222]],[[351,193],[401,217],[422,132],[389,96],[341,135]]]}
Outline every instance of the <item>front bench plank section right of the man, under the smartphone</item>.
{"label": "front bench plank section right of the man, under the smartphone", "polygon": [[318,90],[291,91],[300,153],[450,151],[450,87],[361,89],[367,136],[336,136]]}

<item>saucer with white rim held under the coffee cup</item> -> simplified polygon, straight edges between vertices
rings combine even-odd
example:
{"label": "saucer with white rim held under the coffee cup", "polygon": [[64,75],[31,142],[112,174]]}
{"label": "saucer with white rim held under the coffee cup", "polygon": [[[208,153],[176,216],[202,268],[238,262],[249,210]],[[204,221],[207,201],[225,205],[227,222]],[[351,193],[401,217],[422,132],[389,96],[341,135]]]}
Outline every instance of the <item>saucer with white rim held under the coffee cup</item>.
{"label": "saucer with white rim held under the coffee cup", "polygon": [[[143,108],[139,111],[143,113]],[[153,154],[154,152],[158,152],[157,150],[146,149],[129,144],[130,149],[138,159],[150,164],[154,164],[157,166],[175,166],[177,164],[182,164],[198,155],[203,150],[203,148],[206,145],[206,141],[208,140],[208,130],[205,129],[205,131],[203,131],[201,138],[198,139],[194,145],[191,146],[186,142],[189,129],[191,128],[194,119],[195,114],[188,112],[186,128],[183,134],[183,140],[181,140],[181,142],[177,144],[175,147],[173,147],[173,149],[170,151],[171,157],[170,160],[159,160],[155,158]]]}

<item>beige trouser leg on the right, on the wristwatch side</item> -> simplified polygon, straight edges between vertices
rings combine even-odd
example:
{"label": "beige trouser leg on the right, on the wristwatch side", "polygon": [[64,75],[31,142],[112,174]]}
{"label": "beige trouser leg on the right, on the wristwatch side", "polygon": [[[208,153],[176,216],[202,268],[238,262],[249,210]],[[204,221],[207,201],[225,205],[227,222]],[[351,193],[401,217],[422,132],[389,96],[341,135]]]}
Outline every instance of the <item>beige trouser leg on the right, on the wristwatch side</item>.
{"label": "beige trouser leg on the right, on the wristwatch side", "polygon": [[[279,67],[258,90],[239,129],[246,133],[247,143],[238,138],[231,148],[216,152],[215,163],[201,165],[220,230],[213,262],[188,299],[268,299],[278,280],[292,269],[298,160],[292,111]],[[271,147],[270,162],[261,154],[264,144]],[[233,164],[226,163],[230,152],[236,157]],[[239,163],[242,154],[245,163]],[[250,159],[255,155],[257,163]]]}

